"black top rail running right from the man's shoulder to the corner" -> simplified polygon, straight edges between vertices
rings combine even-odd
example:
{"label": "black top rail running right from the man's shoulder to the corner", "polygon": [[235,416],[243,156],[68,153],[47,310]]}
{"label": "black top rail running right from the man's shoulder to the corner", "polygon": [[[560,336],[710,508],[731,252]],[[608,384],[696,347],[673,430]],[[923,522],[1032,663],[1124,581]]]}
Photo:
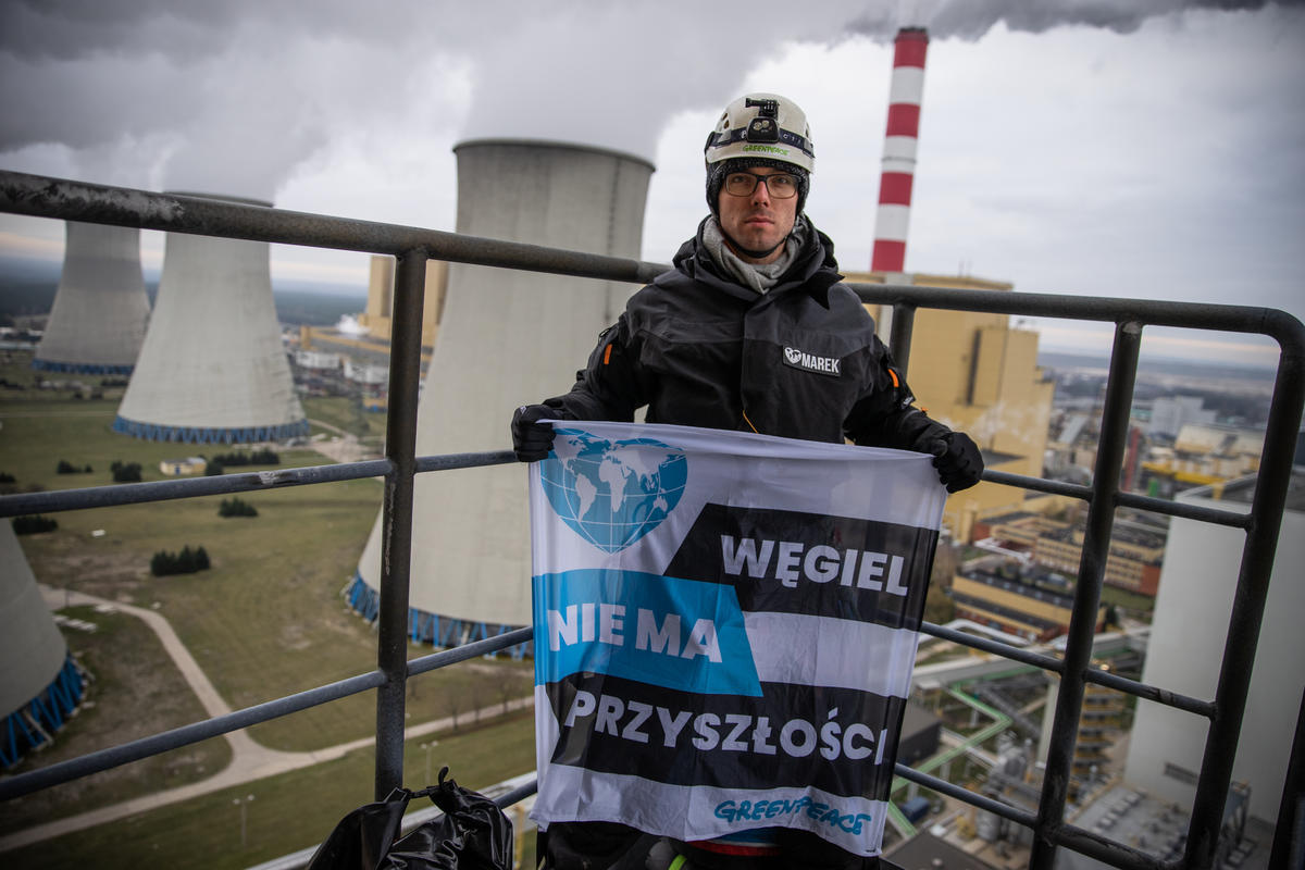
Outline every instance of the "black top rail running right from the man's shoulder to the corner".
{"label": "black top rail running right from the man's shoulder to the corner", "polygon": [[1305,350],[1305,326],[1287,312],[1250,305],[1173,303],[1156,299],[1062,296],[990,290],[958,290],[912,284],[846,282],[865,303],[906,304],[919,308],[990,312],[1024,317],[1058,317],[1143,326],[1173,326],[1220,333],[1258,333],[1278,340],[1284,352]]}

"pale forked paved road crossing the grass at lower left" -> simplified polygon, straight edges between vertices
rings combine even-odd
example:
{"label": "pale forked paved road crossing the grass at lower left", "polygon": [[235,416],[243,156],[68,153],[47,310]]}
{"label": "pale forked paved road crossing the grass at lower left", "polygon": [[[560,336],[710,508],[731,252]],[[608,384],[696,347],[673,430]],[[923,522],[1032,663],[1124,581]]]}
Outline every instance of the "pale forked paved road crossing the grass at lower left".
{"label": "pale forked paved road crossing the grass at lower left", "polygon": [[[209,677],[204,673],[198,663],[185,648],[185,644],[183,644],[181,639],[176,635],[176,631],[172,630],[172,626],[166,618],[163,618],[162,614],[145,608],[132,607],[119,601],[110,601],[108,599],[102,599],[94,595],[68,592],[65,590],[44,584],[40,586],[40,591],[46,597],[46,604],[50,605],[52,610],[67,607],[67,596],[68,604],[108,605],[121,610],[123,613],[129,613],[130,616],[140,618],[158,635],[159,640],[163,642],[163,648],[167,650],[167,653],[172,657],[172,661],[176,663],[176,667],[181,670],[187,682],[191,683],[191,687],[200,698],[200,703],[204,704],[204,710],[209,713],[209,716],[221,716],[231,712],[231,707],[222,699],[218,690],[214,689]],[[530,707],[532,704],[532,697],[518,698],[517,700],[509,702],[508,708],[521,710],[522,707]],[[493,707],[485,707],[480,711],[480,713],[495,716],[501,711],[502,706],[495,704]],[[480,713],[471,712],[470,716],[479,717]],[[462,720],[466,721],[467,716],[468,713],[463,713]],[[420,725],[412,725],[411,728],[406,728],[403,733],[405,737],[411,738],[435,732],[450,730],[452,728],[453,717],[449,716],[423,723]],[[209,779],[168,789],[166,792],[155,792],[154,794],[132,798],[129,801],[123,801],[121,803],[114,803],[112,806],[104,806],[98,810],[90,810],[89,813],[72,815],[55,822],[47,822],[46,824],[38,824],[25,831],[10,833],[0,837],[0,852],[16,849],[31,843],[39,843],[42,840],[48,840],[50,837],[61,836],[73,831],[81,831],[106,822],[114,822],[116,819],[136,815],[137,813],[153,810],[167,803],[187,801],[192,797],[218,792],[232,785],[240,785],[243,783],[264,779],[266,776],[275,776],[287,771],[321,764],[322,762],[341,758],[346,753],[355,749],[371,746],[375,742],[375,737],[363,737],[360,740],[339,743],[338,746],[329,746],[312,753],[283,753],[258,745],[244,729],[231,732],[224,737],[227,742],[231,743],[231,763]]]}

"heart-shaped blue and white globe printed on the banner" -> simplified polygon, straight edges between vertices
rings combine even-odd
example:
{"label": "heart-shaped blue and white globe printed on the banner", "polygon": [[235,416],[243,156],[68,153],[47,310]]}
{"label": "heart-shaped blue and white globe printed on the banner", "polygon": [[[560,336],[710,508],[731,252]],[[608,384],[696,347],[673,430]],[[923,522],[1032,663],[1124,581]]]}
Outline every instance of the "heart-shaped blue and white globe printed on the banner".
{"label": "heart-shaped blue and white globe printed on the banner", "polygon": [[675,510],[689,462],[677,447],[651,438],[613,443],[559,428],[539,471],[548,503],[562,522],[594,547],[615,553]]}

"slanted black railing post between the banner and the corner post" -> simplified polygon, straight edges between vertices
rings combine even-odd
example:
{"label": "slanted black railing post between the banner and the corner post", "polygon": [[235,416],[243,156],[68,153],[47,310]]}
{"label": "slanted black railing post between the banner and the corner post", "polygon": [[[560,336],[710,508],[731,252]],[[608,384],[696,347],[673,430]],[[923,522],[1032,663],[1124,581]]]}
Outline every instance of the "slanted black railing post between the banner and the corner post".
{"label": "slanted black railing post between the banner and the corner post", "polygon": [[1078,582],[1074,586],[1074,613],[1070,617],[1069,638],[1065,644],[1065,670],[1056,697],[1056,717],[1047,751],[1047,773],[1043,780],[1041,800],[1037,803],[1037,828],[1034,831],[1034,849],[1028,861],[1028,866],[1034,870],[1052,869],[1056,861],[1056,843],[1051,835],[1065,820],[1078,720],[1083,712],[1084,674],[1092,664],[1096,610],[1101,603],[1101,582],[1105,577],[1105,560],[1114,526],[1114,497],[1118,494],[1120,472],[1124,470],[1124,445],[1133,408],[1133,385],[1137,380],[1141,346],[1141,323],[1126,321],[1116,326],[1111,376],[1105,385],[1105,407],[1101,412],[1101,433],[1096,445],[1096,466],[1092,470],[1092,501],[1087,511],[1083,554],[1078,566]]}

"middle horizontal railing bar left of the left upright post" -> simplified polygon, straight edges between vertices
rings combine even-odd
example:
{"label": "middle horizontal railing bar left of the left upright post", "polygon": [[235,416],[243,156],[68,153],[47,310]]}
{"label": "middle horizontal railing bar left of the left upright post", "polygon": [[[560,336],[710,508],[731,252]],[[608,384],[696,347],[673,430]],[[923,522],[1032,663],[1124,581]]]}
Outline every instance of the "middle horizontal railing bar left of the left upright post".
{"label": "middle horizontal railing bar left of the left upright post", "polygon": [[389,459],[368,459],[365,462],[350,462],[335,466],[248,471],[232,475],[214,475],[211,477],[192,477],[189,480],[151,480],[138,484],[111,484],[81,489],[18,493],[0,496],[0,517],[21,517],[23,514],[82,510],[87,507],[112,507],[115,505],[137,505],[172,498],[198,498],[201,496],[224,496],[238,492],[277,489],[279,487],[304,487],[342,480],[359,480],[361,477],[384,476],[389,473],[392,467],[393,464]]}

